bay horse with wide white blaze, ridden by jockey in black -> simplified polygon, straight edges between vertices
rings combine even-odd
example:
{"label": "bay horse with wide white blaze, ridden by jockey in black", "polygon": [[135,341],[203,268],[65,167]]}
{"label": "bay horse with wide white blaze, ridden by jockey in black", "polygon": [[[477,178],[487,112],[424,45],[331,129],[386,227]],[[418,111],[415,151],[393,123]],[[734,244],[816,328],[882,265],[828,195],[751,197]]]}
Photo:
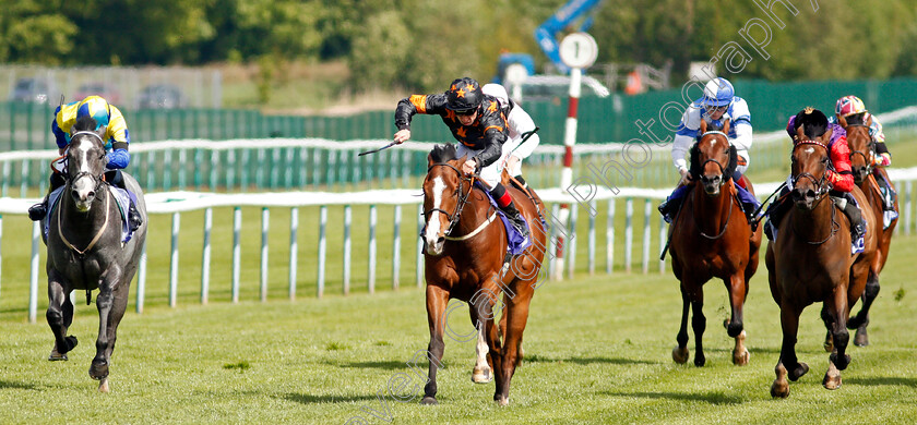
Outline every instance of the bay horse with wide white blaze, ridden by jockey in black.
{"label": "bay horse with wide white blaze, ridden by jockey in black", "polygon": [[[546,229],[535,206],[515,187],[507,186],[516,208],[529,223],[532,245],[503,267],[507,233],[495,220],[497,210],[473,177],[461,171],[466,158],[456,158],[454,145],[437,145],[428,156],[424,180],[425,276],[427,320],[430,328],[430,368],[421,404],[437,404],[437,371],[441,367],[446,326],[446,304],[456,299],[468,303],[472,324],[484,329],[488,363],[495,371],[493,400],[509,404],[510,380],[521,361],[520,344],[528,319],[541,260]],[[496,223],[493,221],[497,221]],[[502,343],[493,309],[503,292],[507,320]]]}

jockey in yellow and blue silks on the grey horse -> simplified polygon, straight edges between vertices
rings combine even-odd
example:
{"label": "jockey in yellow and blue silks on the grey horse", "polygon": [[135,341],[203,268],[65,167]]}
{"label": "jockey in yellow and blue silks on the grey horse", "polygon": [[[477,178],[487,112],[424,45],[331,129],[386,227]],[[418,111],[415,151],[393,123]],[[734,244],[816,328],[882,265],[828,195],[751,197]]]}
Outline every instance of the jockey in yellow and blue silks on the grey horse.
{"label": "jockey in yellow and blue silks on the grey horse", "polygon": [[[76,123],[76,120],[83,117],[92,117],[96,121],[96,130],[105,127],[105,144],[106,163],[105,180],[112,185],[124,189],[124,181],[121,178],[121,169],[127,168],[131,162],[131,154],[128,151],[128,145],[131,143],[131,135],[128,131],[128,123],[124,121],[124,116],[114,105],[109,105],[107,100],[99,96],[88,96],[85,99],[73,101],[67,105],[61,105],[55,109],[55,118],[51,121],[51,132],[55,134],[55,141],[58,145],[60,155],[64,155],[67,146],[70,144],[70,131]],[[58,170],[63,171],[63,170]],[[62,186],[66,182],[60,172],[51,173],[51,186],[48,193]],[[131,197],[131,205],[128,211],[128,217],[131,224],[131,230],[140,226],[142,218],[134,206],[134,194],[128,191]],[[48,196],[45,199],[28,208],[28,217],[32,220],[40,220],[45,218],[48,211]]]}

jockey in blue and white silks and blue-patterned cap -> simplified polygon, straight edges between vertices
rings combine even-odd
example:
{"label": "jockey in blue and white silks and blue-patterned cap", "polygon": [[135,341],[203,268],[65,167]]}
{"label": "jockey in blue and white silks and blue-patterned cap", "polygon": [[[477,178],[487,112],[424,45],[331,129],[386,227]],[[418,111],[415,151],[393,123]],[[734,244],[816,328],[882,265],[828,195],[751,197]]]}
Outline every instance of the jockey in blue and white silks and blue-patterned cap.
{"label": "jockey in blue and white silks and blue-patterned cap", "polygon": [[702,135],[700,134],[701,121],[706,121],[707,127],[717,129],[722,127],[726,120],[730,121],[727,136],[729,143],[736,147],[739,161],[736,165],[733,181],[736,183],[742,209],[749,215],[749,219],[753,218],[751,215],[758,209],[760,203],[742,186],[740,180],[750,162],[748,151],[751,148],[751,112],[746,100],[736,96],[733,84],[720,77],[711,80],[704,86],[703,97],[688,106],[675,133],[671,159],[675,168],[681,174],[681,181],[666,202],[659,205],[659,211],[667,222],[671,222],[675,212],[678,211],[682,199],[688,194],[688,182],[694,178],[689,172],[686,157],[688,150]]}

